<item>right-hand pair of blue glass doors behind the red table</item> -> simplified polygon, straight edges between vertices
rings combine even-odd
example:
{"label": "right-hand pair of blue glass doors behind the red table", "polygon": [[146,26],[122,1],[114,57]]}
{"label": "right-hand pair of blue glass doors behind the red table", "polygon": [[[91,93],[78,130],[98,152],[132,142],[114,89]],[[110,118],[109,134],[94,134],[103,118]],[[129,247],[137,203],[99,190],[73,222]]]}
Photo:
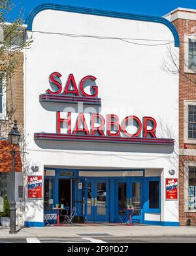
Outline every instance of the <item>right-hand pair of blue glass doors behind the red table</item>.
{"label": "right-hand pair of blue glass doors behind the red table", "polygon": [[140,179],[127,178],[115,181],[115,208],[114,221],[125,222],[129,220],[127,206],[133,205],[132,221],[140,222],[142,218],[142,186]]}

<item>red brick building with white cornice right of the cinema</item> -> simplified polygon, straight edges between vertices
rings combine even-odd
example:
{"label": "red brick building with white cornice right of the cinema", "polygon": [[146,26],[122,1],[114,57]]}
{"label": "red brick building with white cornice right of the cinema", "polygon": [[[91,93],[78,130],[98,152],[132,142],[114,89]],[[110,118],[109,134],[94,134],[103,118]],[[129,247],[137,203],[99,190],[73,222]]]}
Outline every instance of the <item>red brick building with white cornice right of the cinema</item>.
{"label": "red brick building with white cornice right of the cinema", "polygon": [[196,225],[196,10],[178,8],[165,18],[180,36],[179,221]]}

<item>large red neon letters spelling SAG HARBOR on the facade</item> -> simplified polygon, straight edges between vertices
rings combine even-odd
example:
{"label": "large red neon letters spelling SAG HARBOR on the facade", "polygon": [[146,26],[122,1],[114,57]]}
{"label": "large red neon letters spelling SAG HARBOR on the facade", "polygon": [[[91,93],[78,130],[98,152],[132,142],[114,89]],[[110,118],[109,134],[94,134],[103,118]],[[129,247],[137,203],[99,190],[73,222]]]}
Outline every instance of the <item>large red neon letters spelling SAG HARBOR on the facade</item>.
{"label": "large red neon letters spelling SAG HARBOR on the facade", "polygon": [[[88,75],[84,77],[80,81],[77,87],[76,81],[74,79],[74,75],[70,74],[65,84],[64,90],[61,85],[60,77],[61,77],[61,74],[58,72],[54,72],[50,75],[50,82],[57,86],[56,91],[52,91],[50,89],[46,90],[48,94],[57,95],[57,96],[50,96],[50,97],[65,98],[66,94],[71,94],[72,95],[71,98],[79,99],[78,102],[81,100],[84,100],[84,101],[88,100],[88,103],[95,103],[95,100],[97,99],[92,99],[92,98],[96,98],[98,96],[98,87],[93,85],[93,83],[95,84],[96,77],[93,77],[92,75]],[[91,81],[91,83],[89,81]],[[91,94],[86,93],[85,88],[87,86],[90,86]],[[48,94],[46,95],[47,97],[48,97]],[[83,97],[86,97],[86,98],[84,99]],[[128,117],[125,117],[125,119],[123,119],[122,123],[120,124],[120,120],[117,115],[114,115],[114,114],[106,115],[106,124],[105,124],[104,117],[101,114],[96,113],[96,114],[91,114],[90,116],[90,129],[89,129],[86,123],[84,114],[79,113],[76,119],[74,128],[72,130],[71,112],[67,113],[66,119],[61,119],[60,112],[57,111],[57,134],[61,134],[61,126],[63,125],[67,126],[67,134],[76,135],[78,132],[82,132],[88,136],[89,135],[97,136],[98,134],[99,136],[110,136],[110,137],[118,137],[118,136],[141,137],[142,136],[142,137],[155,138],[156,137],[155,130],[157,128],[157,123],[155,119],[152,117],[143,117],[143,122],[141,122],[140,119],[135,115],[130,115]],[[128,126],[135,126],[137,128],[137,132],[135,132],[134,134],[131,134],[130,132],[127,131]]]}

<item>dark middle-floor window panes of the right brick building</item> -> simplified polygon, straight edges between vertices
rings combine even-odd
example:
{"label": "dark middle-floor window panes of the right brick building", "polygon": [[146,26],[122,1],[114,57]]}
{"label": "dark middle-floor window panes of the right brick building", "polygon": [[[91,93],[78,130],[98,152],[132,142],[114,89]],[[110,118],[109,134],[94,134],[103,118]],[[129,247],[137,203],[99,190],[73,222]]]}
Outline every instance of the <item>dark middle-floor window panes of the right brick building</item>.
{"label": "dark middle-floor window panes of the right brick building", "polygon": [[189,105],[188,136],[189,139],[196,138],[196,105]]}

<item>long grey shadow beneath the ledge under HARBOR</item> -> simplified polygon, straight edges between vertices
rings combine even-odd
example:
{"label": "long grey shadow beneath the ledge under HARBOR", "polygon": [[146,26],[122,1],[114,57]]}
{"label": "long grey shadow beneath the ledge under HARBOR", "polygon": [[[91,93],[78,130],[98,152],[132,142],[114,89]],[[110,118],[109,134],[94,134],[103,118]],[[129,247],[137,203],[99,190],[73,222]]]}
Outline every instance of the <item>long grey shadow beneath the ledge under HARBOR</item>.
{"label": "long grey shadow beneath the ledge under HARBOR", "polygon": [[76,151],[108,151],[129,153],[172,154],[172,145],[128,145],[125,143],[91,143],[80,141],[39,141],[35,143],[41,149],[76,150]]}

